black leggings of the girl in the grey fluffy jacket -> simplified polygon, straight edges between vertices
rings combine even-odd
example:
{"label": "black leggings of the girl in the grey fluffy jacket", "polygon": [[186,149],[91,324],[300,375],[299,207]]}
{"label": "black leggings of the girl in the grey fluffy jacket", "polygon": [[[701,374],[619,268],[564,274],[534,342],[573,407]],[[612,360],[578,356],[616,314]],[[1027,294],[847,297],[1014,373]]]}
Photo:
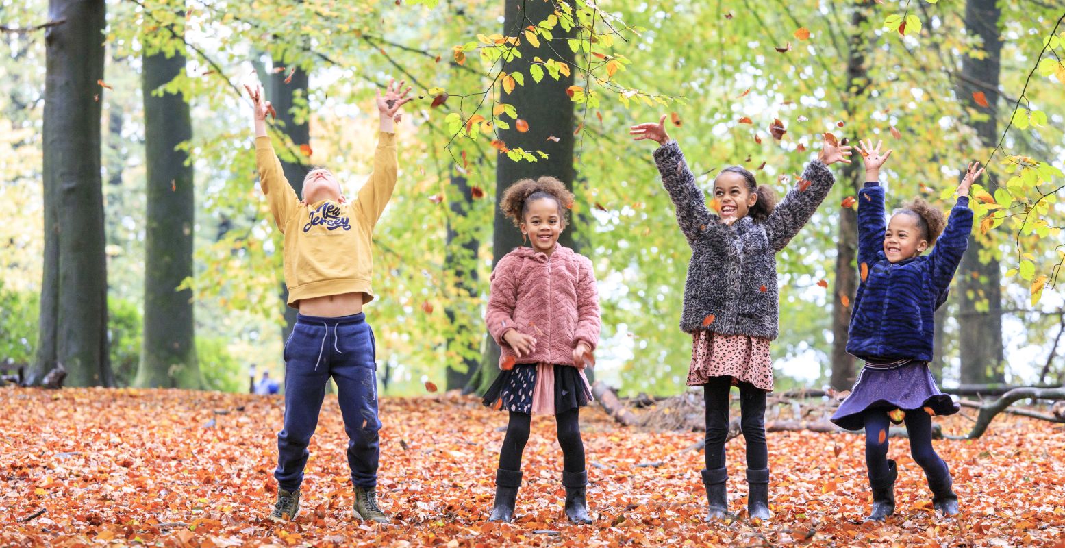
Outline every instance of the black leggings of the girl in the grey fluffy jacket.
{"label": "black leggings of the girl in the grey fluffy jacket", "polygon": [[[706,402],[706,469],[725,465],[725,437],[728,436],[728,390],[731,376],[711,376],[703,385]],[[747,467],[769,467],[766,448],[766,391],[751,383],[739,383],[740,431],[747,440]]]}

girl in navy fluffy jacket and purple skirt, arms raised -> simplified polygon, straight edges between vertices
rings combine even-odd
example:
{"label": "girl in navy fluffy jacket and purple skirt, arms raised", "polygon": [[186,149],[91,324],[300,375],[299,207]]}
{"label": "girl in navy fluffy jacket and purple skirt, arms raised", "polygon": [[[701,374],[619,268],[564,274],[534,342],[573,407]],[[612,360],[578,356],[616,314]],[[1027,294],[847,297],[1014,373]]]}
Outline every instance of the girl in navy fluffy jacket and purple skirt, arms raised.
{"label": "girl in navy fluffy jacket and purple skirt, arms raised", "polygon": [[[832,416],[847,430],[866,431],[866,466],[872,488],[872,513],[882,521],[895,512],[895,461],[887,458],[890,421],[905,421],[914,461],[924,469],[932,502],[944,516],[957,514],[950,471],[932,448],[932,415],[957,413],[936,386],[932,359],[934,313],[962,261],[972,230],[969,188],[984,172],[969,164],[957,187],[957,203],[945,222],[943,212],[916,198],[884,223],[880,167],[891,150],[862,143],[866,184],[858,193],[858,269],[847,352],[865,360],[850,396]],[[944,225],[946,224],[946,229]],[[924,252],[935,247],[928,254]]]}

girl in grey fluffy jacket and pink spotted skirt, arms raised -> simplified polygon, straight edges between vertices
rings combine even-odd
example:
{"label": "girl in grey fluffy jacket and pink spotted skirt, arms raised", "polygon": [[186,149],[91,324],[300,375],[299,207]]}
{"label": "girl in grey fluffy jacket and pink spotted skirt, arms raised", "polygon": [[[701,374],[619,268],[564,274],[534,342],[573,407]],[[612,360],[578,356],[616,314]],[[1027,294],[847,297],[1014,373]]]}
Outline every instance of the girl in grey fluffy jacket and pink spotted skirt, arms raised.
{"label": "girl in grey fluffy jacket and pink spotted skirt, arms raised", "polygon": [[676,208],[676,221],[691,246],[684,286],[681,328],[692,335],[688,386],[702,386],[706,402],[706,468],[703,483],[709,502],[707,519],[728,515],[725,436],[728,390],[739,387],[740,428],[747,440],[748,513],[769,518],[769,455],[766,449],[766,393],[773,389],[769,342],[777,335],[776,252],[784,248],[832,190],[828,166],[850,163],[851,147],[825,134],[817,160],[810,162],[774,207],[773,191],[758,186],[754,174],[726,167],[714,180],[707,207],[695,177],[676,141],[658,124],[638,124],[636,141],[658,142],[655,163]]}

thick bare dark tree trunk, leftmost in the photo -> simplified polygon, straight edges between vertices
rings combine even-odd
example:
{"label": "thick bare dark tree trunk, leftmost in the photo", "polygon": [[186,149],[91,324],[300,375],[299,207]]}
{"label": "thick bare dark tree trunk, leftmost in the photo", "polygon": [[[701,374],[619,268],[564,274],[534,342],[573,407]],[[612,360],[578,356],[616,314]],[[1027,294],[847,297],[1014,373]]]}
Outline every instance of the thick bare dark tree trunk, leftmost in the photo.
{"label": "thick bare dark tree trunk, leftmost in the photo", "polygon": [[[45,31],[45,274],[37,360],[40,384],[56,362],[73,386],[110,386],[108,278],[100,177],[103,0],[50,0]],[[94,96],[96,96],[94,98]]]}

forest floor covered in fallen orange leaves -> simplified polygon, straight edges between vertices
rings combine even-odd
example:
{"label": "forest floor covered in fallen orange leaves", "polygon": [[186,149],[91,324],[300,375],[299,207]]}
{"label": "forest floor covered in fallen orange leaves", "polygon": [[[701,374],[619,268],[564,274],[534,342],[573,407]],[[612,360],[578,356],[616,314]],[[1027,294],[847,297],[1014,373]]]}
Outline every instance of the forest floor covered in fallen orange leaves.
{"label": "forest floor covered in fallen orange leaves", "polygon": [[[934,515],[907,441],[892,439],[897,512],[862,523],[863,437],[784,432],[768,434],[774,517],[706,523],[703,454],[686,450],[701,434],[623,429],[593,406],[583,430],[595,522],[564,521],[554,421],[537,418],[519,519],[501,525],[486,518],[505,414],[454,394],[386,398],[378,490],[394,523],[374,526],[351,518],[347,439],[330,396],[304,510],[278,525],[265,515],[282,407],[280,397],[216,392],[0,389],[0,546],[1065,547],[1065,426],[1031,419],[1002,415],[979,440],[935,442],[954,474],[957,518]],[[970,424],[936,421],[948,434]],[[733,511],[746,507],[743,448],[742,437],[727,447]]]}

